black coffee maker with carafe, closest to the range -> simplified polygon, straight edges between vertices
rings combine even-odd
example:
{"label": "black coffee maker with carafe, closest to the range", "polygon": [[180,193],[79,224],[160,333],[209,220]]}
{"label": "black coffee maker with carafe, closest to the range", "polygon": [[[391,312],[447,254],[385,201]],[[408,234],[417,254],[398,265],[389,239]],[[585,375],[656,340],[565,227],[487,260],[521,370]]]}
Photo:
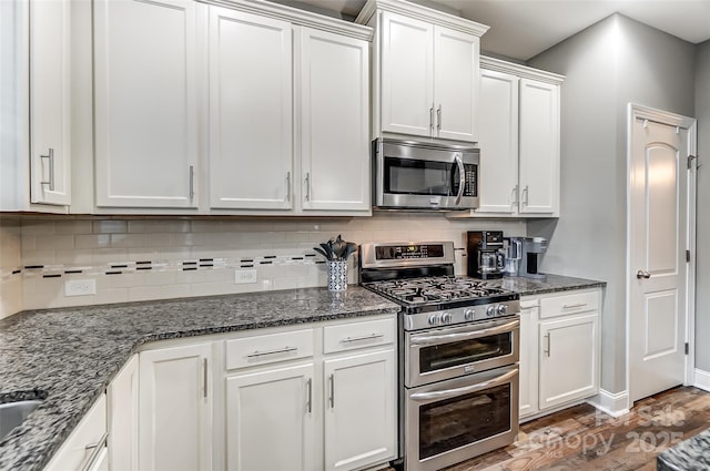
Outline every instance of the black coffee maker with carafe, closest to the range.
{"label": "black coffee maker with carafe, closest to the range", "polygon": [[467,248],[468,276],[481,279],[503,278],[503,231],[468,231]]}

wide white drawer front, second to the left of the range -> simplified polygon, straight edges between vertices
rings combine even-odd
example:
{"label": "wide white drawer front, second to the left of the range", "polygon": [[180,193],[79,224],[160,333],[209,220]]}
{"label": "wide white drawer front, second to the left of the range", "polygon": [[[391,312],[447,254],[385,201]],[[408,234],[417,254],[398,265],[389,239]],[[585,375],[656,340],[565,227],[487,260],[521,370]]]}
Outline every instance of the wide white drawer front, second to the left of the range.
{"label": "wide white drawer front, second to the left of the range", "polygon": [[313,329],[226,341],[226,369],[267,365],[313,356]]}

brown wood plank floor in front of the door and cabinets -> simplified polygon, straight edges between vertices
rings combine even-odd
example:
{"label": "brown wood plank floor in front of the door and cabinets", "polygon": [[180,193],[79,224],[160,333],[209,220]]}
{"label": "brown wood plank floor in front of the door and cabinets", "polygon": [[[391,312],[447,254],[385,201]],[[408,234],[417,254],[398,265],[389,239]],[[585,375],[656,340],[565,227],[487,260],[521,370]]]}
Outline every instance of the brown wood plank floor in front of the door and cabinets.
{"label": "brown wood plank floor in front of the door and cabinets", "polygon": [[656,470],[656,455],[710,428],[710,393],[674,388],[617,419],[589,405],[520,426],[518,440],[446,471]]}

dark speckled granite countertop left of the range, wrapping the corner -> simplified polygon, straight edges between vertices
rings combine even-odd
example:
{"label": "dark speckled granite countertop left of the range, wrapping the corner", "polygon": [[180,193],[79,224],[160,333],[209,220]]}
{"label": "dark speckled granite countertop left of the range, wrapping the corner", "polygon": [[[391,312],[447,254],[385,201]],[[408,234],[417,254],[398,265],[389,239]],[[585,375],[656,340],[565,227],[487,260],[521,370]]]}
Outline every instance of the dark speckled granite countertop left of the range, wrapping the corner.
{"label": "dark speckled granite countertop left of the range, wrapping the corner", "polygon": [[24,311],[0,320],[0,403],[45,398],[0,442],[1,471],[40,471],[138,347],[163,339],[397,313],[366,289],[262,291]]}

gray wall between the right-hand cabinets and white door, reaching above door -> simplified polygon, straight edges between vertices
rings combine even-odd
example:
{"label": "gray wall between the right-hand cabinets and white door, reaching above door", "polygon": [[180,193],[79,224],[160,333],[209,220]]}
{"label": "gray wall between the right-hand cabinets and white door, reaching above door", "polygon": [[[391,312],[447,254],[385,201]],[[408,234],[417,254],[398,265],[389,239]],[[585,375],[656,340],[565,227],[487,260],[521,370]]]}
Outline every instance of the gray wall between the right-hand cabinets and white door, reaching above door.
{"label": "gray wall between the right-hand cabinets and white door, reaching above door", "polygon": [[694,47],[613,14],[529,61],[567,75],[561,96],[561,207],[531,221],[549,238],[541,269],[607,281],[601,387],[626,385],[626,127],[629,102],[694,112]]}

